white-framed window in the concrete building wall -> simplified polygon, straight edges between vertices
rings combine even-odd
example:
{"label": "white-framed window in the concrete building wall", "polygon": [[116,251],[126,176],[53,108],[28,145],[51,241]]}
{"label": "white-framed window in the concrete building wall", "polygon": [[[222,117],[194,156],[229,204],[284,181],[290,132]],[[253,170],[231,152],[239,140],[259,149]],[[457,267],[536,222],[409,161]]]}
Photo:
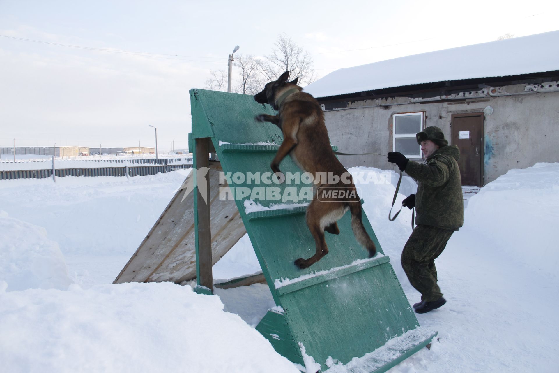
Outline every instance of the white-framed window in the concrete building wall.
{"label": "white-framed window in the concrete building wall", "polygon": [[415,134],[423,131],[423,115],[423,112],[394,114],[393,152],[400,152],[408,158],[421,158],[421,146]]}

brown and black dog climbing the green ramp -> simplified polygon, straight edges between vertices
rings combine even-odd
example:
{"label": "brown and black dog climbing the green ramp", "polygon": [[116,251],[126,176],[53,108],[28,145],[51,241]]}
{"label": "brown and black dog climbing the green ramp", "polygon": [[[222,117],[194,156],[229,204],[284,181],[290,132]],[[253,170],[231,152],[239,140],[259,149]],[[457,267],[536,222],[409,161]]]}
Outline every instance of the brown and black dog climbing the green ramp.
{"label": "brown and black dog climbing the green ramp", "polygon": [[[254,100],[269,103],[278,111],[278,116],[260,114],[255,117],[260,122],[272,122],[283,132],[283,143],[272,160],[272,171],[281,173],[280,163],[290,154],[303,171],[310,172],[315,177],[316,193],[307,208],[306,221],[316,243],[316,253],[309,259],[297,259],[295,265],[301,269],[307,268],[328,254],[324,231],[339,234],[337,221],[348,209],[352,214],[353,234],[359,244],[368,250],[369,257],[372,257],[376,253],[376,247],[363,226],[361,199],[351,175],[331,148],[324,124],[324,112],[314,97],[302,92],[302,88],[297,86],[298,78],[287,82],[288,77],[289,72],[286,71],[277,81],[266,84],[262,92],[254,95]],[[320,179],[320,173],[333,176],[333,182]],[[318,180],[322,182],[317,183]],[[333,197],[332,193],[325,193],[319,198],[319,193],[328,190],[343,190],[352,197],[339,199]]]}

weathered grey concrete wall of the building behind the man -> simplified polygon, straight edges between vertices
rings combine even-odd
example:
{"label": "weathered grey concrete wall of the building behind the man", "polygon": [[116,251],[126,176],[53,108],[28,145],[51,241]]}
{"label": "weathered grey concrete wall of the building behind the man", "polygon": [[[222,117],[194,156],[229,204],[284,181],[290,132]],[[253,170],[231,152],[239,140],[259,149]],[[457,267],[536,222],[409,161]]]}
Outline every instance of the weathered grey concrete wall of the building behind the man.
{"label": "weathered grey concrete wall of the building behind the man", "polygon": [[[499,87],[497,95],[484,92],[487,97],[449,102],[411,102],[408,97],[356,101],[325,111],[326,127],[340,152],[386,154],[392,151],[394,114],[425,112],[424,125],[441,128],[451,142],[452,114],[483,112],[491,106],[494,112],[484,122],[485,185],[512,168],[559,162],[559,91],[525,92],[525,87]],[[339,158],[346,167],[394,169],[378,155]]]}

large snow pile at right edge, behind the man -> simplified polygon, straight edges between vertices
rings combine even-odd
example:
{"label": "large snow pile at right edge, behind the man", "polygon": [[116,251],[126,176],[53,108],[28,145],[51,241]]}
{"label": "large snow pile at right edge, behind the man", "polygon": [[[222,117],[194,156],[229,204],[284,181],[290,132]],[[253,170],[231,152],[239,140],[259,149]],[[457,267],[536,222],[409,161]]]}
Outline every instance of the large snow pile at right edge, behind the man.
{"label": "large snow pile at right edge, behind the man", "polygon": [[476,243],[513,259],[517,270],[559,279],[559,163],[510,170],[468,201],[464,220]]}

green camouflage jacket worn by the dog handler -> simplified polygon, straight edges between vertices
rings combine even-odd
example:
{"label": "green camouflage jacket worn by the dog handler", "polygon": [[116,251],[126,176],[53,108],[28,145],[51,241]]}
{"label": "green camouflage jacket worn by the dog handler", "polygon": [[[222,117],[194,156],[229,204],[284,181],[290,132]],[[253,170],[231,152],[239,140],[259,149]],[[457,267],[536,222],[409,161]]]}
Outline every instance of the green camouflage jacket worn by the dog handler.
{"label": "green camouflage jacket worn by the dog handler", "polygon": [[415,224],[458,230],[464,221],[462,180],[456,162],[460,151],[447,145],[434,152],[425,163],[410,160],[406,173],[418,181],[415,195]]}

